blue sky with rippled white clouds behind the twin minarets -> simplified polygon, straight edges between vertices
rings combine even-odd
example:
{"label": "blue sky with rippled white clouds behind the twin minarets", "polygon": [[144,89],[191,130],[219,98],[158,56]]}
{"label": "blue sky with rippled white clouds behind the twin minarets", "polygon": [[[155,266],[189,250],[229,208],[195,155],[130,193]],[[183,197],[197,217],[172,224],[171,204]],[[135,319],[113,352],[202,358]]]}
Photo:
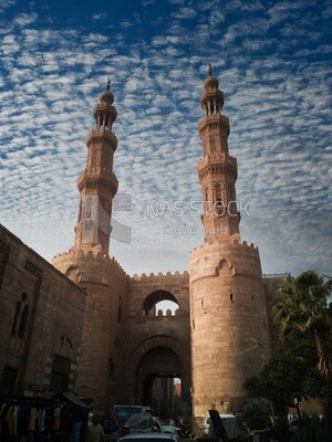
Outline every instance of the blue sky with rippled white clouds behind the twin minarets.
{"label": "blue sky with rippled white clouds behind the twin minarets", "polygon": [[131,241],[112,239],[111,254],[128,274],[187,270],[204,241],[190,202],[211,63],[242,239],[263,273],[331,275],[331,15],[330,0],[0,0],[0,222],[48,261],[72,246],[110,76],[114,172],[131,198],[113,213]]}

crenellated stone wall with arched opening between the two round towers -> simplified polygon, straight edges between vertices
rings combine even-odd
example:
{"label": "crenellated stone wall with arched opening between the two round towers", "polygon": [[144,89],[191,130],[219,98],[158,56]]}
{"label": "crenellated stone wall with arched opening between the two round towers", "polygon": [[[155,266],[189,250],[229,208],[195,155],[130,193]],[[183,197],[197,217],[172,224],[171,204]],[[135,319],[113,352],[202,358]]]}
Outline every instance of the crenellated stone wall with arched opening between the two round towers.
{"label": "crenellated stone wall with arched opening between the two round towers", "polygon": [[[160,301],[177,303],[175,315],[158,315]],[[126,301],[123,349],[123,377],[120,390],[124,403],[149,400],[144,379],[156,372],[175,372],[181,379],[183,402],[190,402],[189,276],[143,274],[131,277]]]}

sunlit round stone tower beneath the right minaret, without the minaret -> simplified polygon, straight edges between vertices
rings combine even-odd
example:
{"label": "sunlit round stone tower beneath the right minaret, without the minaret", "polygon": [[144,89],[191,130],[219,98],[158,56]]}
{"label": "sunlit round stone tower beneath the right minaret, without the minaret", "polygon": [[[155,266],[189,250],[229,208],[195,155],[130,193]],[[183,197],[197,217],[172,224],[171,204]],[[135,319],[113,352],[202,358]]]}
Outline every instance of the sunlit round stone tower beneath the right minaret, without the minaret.
{"label": "sunlit round stone tower beneath the right minaret, without the minaret", "polygon": [[[258,249],[246,242],[205,244],[190,255],[193,409],[242,409],[242,382],[270,355]],[[255,341],[256,340],[256,341]],[[249,350],[252,348],[252,350]]]}

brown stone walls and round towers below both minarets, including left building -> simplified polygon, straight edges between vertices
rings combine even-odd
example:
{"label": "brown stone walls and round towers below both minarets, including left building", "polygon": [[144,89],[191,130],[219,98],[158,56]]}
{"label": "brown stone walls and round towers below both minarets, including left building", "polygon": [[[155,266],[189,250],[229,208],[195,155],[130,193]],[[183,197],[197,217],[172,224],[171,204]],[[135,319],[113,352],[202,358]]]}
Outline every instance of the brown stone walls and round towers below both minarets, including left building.
{"label": "brown stone walls and round towers below both minarets, including left building", "polygon": [[[71,361],[69,390],[93,398],[101,412],[115,402],[146,400],[145,380],[162,371],[181,379],[185,412],[191,383],[201,414],[211,406],[229,411],[239,383],[261,365],[262,349],[251,338],[263,341],[267,358],[269,338],[262,335],[270,333],[276,346],[271,309],[283,276],[261,280],[252,245],[194,250],[190,295],[187,272],[129,277],[110,256],[70,251],[53,260],[60,273],[3,227],[0,240],[0,373],[15,376],[15,394],[49,390],[58,355]],[[177,303],[175,315],[158,314],[163,299]],[[14,325],[18,303],[21,313],[29,306],[23,336],[20,320]]]}

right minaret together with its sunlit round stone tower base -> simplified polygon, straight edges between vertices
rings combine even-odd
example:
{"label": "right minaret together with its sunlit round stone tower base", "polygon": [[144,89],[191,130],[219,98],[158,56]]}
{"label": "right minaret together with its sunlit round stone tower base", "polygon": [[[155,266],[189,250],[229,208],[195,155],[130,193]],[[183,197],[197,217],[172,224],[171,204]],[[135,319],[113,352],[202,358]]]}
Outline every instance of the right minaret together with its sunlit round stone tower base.
{"label": "right minaret together with its sunlit round stone tower base", "polygon": [[228,118],[219,82],[204,82],[199,122],[205,243],[190,253],[191,400],[196,429],[209,409],[242,410],[243,380],[269,357],[269,330],[258,249],[241,242],[235,183],[237,160],[228,152]]}

